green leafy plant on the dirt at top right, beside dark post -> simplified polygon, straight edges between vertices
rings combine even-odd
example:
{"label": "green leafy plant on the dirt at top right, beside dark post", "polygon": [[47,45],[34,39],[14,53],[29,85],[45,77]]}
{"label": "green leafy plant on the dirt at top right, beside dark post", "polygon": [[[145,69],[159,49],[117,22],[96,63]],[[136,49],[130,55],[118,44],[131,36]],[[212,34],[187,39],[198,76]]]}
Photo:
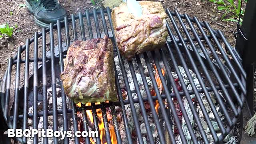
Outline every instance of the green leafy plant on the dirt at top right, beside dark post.
{"label": "green leafy plant on the dirt at top right, beside dark post", "polygon": [[[238,22],[240,18],[240,8],[242,0],[238,0],[238,4],[234,4],[234,0],[209,0],[215,4],[218,4],[218,10],[224,11],[225,13],[222,15],[221,19],[223,21],[231,21]],[[245,2],[247,0],[244,0]],[[228,14],[232,14],[232,16],[226,18]],[[244,10],[241,9],[241,16],[244,16]],[[240,18],[240,24],[242,24],[243,19]]]}

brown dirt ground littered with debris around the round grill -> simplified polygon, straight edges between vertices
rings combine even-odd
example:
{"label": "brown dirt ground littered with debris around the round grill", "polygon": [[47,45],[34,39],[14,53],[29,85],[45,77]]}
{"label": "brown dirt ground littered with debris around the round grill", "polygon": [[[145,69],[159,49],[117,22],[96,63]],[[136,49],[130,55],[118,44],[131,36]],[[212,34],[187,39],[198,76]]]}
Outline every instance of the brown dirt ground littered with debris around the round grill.
{"label": "brown dirt ground littered with debris around the round grill", "polygon": [[[165,8],[170,8],[170,10],[177,8],[181,14],[186,13],[189,16],[196,16],[198,20],[208,22],[212,28],[222,30],[230,44],[235,45],[236,40],[233,33],[236,32],[236,22],[222,21],[221,16],[224,12],[220,12],[216,4],[208,2],[208,0],[159,1]],[[97,7],[93,6],[90,0],[59,0],[59,2],[68,11],[68,16]],[[34,23],[32,14],[25,7],[19,7],[19,4],[24,3],[25,0],[0,0],[0,24],[8,23],[10,26],[18,26],[14,28],[12,38],[0,38],[0,79],[3,78],[6,71],[8,58],[16,54],[18,46],[24,45],[27,38],[34,36],[34,32],[42,31],[42,28]],[[245,5],[243,5],[244,7]],[[12,15],[10,12],[12,12]],[[56,32],[54,35],[56,36]],[[55,42],[56,44],[57,42]],[[40,56],[41,51],[39,50],[38,53]],[[33,56],[32,50],[30,56]],[[22,57],[24,57],[24,54],[22,54]]]}

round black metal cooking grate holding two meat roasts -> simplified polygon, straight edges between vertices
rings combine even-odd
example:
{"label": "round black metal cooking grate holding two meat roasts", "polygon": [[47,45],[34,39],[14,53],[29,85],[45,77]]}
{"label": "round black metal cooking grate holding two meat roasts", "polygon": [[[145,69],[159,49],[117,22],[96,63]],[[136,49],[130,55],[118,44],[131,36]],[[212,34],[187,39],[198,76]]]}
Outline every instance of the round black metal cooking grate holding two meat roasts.
{"label": "round black metal cooking grate holding two meat roasts", "polygon": [[[144,89],[146,90],[146,97],[142,96],[140,92],[140,87],[138,85],[138,80],[134,70],[134,64],[132,61],[128,61],[130,72],[132,75],[132,80],[134,82],[135,91],[138,98],[133,98],[130,90],[128,77],[126,69],[124,66],[124,58],[120,55],[118,48],[116,47],[116,40],[114,36],[114,29],[112,26],[111,20],[111,10],[106,8],[103,10],[96,11],[93,10],[92,13],[86,11],[85,14],[79,13],[78,16],[72,14],[71,18],[65,18],[63,21],[58,21],[57,24],[50,24],[50,28],[43,28],[42,32],[35,32],[34,38],[28,39],[25,46],[18,47],[18,53],[16,56],[9,58],[8,69],[6,70],[5,77],[3,79],[2,91],[4,92],[4,102],[2,102],[2,110],[4,112],[5,121],[8,124],[9,128],[27,128],[28,127],[28,118],[33,119],[33,128],[38,128],[38,118],[43,117],[43,128],[48,128],[48,116],[53,116],[53,130],[58,130],[57,117],[63,117],[63,130],[68,130],[69,127],[73,126],[74,132],[78,130],[77,122],[77,112],[81,112],[83,115],[83,127],[84,130],[88,131],[88,118],[86,110],[92,110],[93,116],[93,126],[94,130],[99,130],[97,109],[101,109],[103,123],[105,128],[106,142],[110,144],[110,130],[108,125],[108,117],[106,115],[106,108],[111,110],[112,122],[114,125],[114,132],[116,135],[116,142],[122,144],[122,138],[119,131],[119,123],[117,120],[116,107],[121,107],[122,120],[124,123],[124,128],[126,132],[126,139],[129,144],[132,144],[132,133],[129,128],[129,121],[126,116],[126,105],[130,105],[132,112],[132,118],[135,126],[135,135],[138,138],[140,144],[143,143],[142,133],[140,130],[140,124],[138,122],[138,117],[136,115],[136,109],[134,104],[139,103],[141,108],[141,115],[145,123],[145,128],[148,135],[148,143],[153,144],[154,139],[150,131],[150,125],[148,123],[148,117],[146,114],[146,109],[144,102],[148,102],[150,105],[150,110],[152,112],[154,123],[156,124],[156,129],[158,132],[158,138],[161,144],[168,143],[164,137],[163,127],[160,126],[160,121],[158,120],[158,115],[154,108],[154,103],[158,100],[160,105],[160,112],[162,113],[163,120],[166,123],[165,129],[168,132],[168,138],[172,144],[176,143],[175,134],[173,130],[173,124],[176,125],[178,134],[182,143],[187,143],[184,131],[182,130],[181,122],[178,119],[176,113],[176,108],[174,107],[173,100],[174,98],[178,101],[180,105],[180,111],[182,112],[183,118],[186,122],[188,133],[191,136],[193,143],[197,143],[197,137],[194,133],[193,127],[190,124],[190,119],[186,113],[186,109],[182,104],[182,98],[186,96],[190,109],[192,111],[195,123],[202,137],[203,143],[209,143],[208,137],[204,132],[198,113],[194,108],[194,100],[197,101],[200,106],[204,119],[207,123],[207,126],[210,130],[210,134],[215,143],[219,143],[230,133],[232,128],[234,128],[238,118],[241,114],[244,95],[246,94],[245,89],[245,77],[246,74],[242,68],[242,64],[236,57],[236,53],[233,51],[232,46],[228,43],[224,34],[220,30],[212,29],[207,22],[199,22],[196,17],[188,17],[186,14],[179,14],[176,10],[170,12],[169,9],[166,9],[168,14],[167,18],[167,30],[170,36],[170,39],[166,42],[166,46],[160,50],[155,50],[152,52],[146,52],[140,56],[136,55],[133,59],[135,60],[138,66],[140,75],[142,77],[142,82],[144,84]],[[99,24],[98,17],[102,20],[102,27]],[[96,32],[92,28],[91,19],[94,22]],[[88,33],[85,32],[84,28],[84,19],[86,20]],[[79,22],[80,29],[76,27]],[[69,28],[69,24],[72,24],[72,28]],[[70,24],[70,25],[71,25]],[[62,29],[64,26],[64,29]],[[54,38],[54,28],[57,28],[58,36]],[[56,102],[56,71],[63,71],[63,58],[66,58],[66,50],[72,41],[78,40],[78,33],[81,35],[82,40],[86,40],[86,34],[89,38],[92,39],[95,36],[98,38],[102,37],[102,31],[104,35],[110,37],[113,41],[115,50],[114,53],[118,56],[120,68],[122,70],[122,77],[124,79],[124,84],[128,96],[128,100],[124,100],[122,96],[122,91],[120,88],[120,83],[118,81],[118,75],[116,70],[116,65],[114,65],[115,77],[116,77],[116,88],[118,92],[118,102],[106,102],[101,104],[92,103],[89,106],[82,105],[77,107],[76,104],[72,103],[71,108],[67,108],[66,95],[64,94],[64,89],[62,83],[61,86],[61,98],[62,98],[62,108],[57,109]],[[79,31],[79,32],[78,32]],[[87,30],[86,30],[87,31]],[[94,32],[96,34],[94,34]],[[47,39],[46,36],[50,36],[50,39]],[[64,38],[65,40],[62,40]],[[42,57],[38,57],[38,42],[42,40]],[[57,40],[58,46],[54,47],[54,40]],[[34,57],[29,57],[30,44],[34,42]],[[50,42],[50,46],[47,44]],[[224,44],[225,50],[222,47]],[[50,48],[50,55],[47,56],[46,48]],[[58,49],[56,51],[56,49]],[[211,51],[209,53],[209,51]],[[228,57],[226,51],[232,56]],[[25,59],[22,59],[22,52],[25,52]],[[56,54],[58,53],[58,54]],[[230,60],[234,62],[231,64]],[[148,82],[146,80],[144,69],[142,66],[142,60],[146,62],[146,67],[148,69],[149,76],[152,80],[152,85],[156,96],[151,96]],[[160,94],[158,89],[157,82],[153,73],[153,68],[150,65],[150,60],[154,62],[156,70],[158,71],[159,78],[162,82],[164,88],[164,94]],[[164,76],[161,72],[162,66],[166,70],[166,75]],[[171,63],[171,64],[170,64]],[[24,81],[20,80],[21,74],[21,64],[25,64],[24,70]],[[30,65],[32,64],[32,65]],[[41,65],[39,65],[41,64]],[[59,64],[57,68],[56,65]],[[178,68],[178,64],[182,65],[187,78],[192,86],[192,90],[188,90],[184,80],[182,78],[181,72]],[[198,65],[196,65],[198,64]],[[235,70],[234,66],[238,67],[238,70]],[[10,86],[12,81],[12,68],[16,67],[16,77],[15,77],[15,88],[14,88],[14,102],[12,109],[9,108],[10,97],[12,93],[10,92]],[[197,88],[192,75],[190,74],[188,68],[191,68],[196,74],[201,88]],[[46,75],[46,71],[50,70],[50,79]],[[179,91],[176,87],[176,81],[172,77],[172,71],[175,70],[178,80],[180,82],[182,91]],[[33,75],[30,77],[29,72],[33,72]],[[15,72],[14,72],[15,73]],[[231,80],[230,75],[234,76],[234,80]],[[42,79],[42,80],[38,80]],[[207,80],[207,83],[204,81]],[[50,81],[52,85],[52,101],[53,109],[47,110],[48,100],[47,100],[47,82]],[[23,88],[20,88],[23,86]],[[38,112],[38,87],[42,86],[42,112]],[[32,105],[34,107],[33,113],[28,114],[28,99],[29,99],[29,90],[32,89]],[[214,103],[210,97],[210,92],[213,92],[217,103],[220,105],[220,110],[224,115],[224,120],[220,118],[218,111],[216,110]],[[223,93],[223,96],[220,96],[220,93]],[[195,96],[191,98],[190,95]],[[206,112],[206,108],[202,102],[200,94],[204,94],[208,101],[208,104],[214,114],[216,122],[220,128],[221,135],[217,135],[212,122]],[[164,101],[166,103],[164,103]],[[171,112],[166,111],[166,106]],[[73,125],[68,125],[68,114],[71,114]],[[173,120],[173,121],[172,121]],[[16,138],[19,142],[27,142],[27,138]],[[79,138],[74,138],[75,144],[79,144]],[[64,143],[68,144],[69,138],[64,139]],[[38,137],[33,138],[33,143],[38,143]],[[48,138],[44,138],[44,144],[48,143]],[[58,138],[54,137],[54,144],[58,143]],[[84,143],[90,143],[90,138],[84,138]],[[96,138],[96,143],[101,144],[100,138]]]}

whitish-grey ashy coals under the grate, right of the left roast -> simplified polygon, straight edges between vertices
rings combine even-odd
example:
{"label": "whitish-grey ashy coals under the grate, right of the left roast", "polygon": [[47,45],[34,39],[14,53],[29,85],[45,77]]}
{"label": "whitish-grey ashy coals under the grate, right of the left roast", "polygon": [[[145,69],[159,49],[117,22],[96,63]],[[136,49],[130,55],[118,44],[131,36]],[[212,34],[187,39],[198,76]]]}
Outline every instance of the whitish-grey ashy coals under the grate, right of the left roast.
{"label": "whitish-grey ashy coals under the grate, right of the left roast", "polygon": [[[142,58],[141,59],[142,61],[142,66],[144,67],[144,73],[146,75],[146,79],[147,79],[147,82],[150,86],[150,90],[152,91],[154,88],[153,88],[153,85],[152,85],[152,81],[151,81],[151,78],[148,74],[148,68],[146,67],[146,63],[144,61],[144,59]],[[122,71],[121,71],[121,68],[120,68],[120,64],[119,64],[119,61],[118,61],[118,57],[116,56],[114,58],[114,61],[115,61],[115,64],[116,64],[116,68],[117,68],[117,73],[118,73],[118,78],[119,78],[119,82],[120,82],[120,85],[121,85],[121,88],[122,90],[125,91],[125,85],[124,85],[124,80],[123,80],[123,76],[122,76]],[[143,82],[142,82],[142,78],[140,76],[140,72],[137,70],[137,64],[136,64],[136,60],[135,59],[132,59],[132,63],[133,63],[133,66],[134,66],[134,70],[135,70],[135,74],[136,74],[136,77],[137,77],[137,81],[138,81],[138,84],[140,86],[140,92],[142,94],[142,97],[146,97],[146,92],[144,90],[144,85],[143,85]],[[132,97],[133,99],[137,98],[137,94],[136,94],[136,90],[135,90],[135,87],[134,87],[134,82],[133,82],[133,79],[132,79],[132,75],[131,75],[131,72],[130,72],[130,68],[129,68],[129,64],[127,62],[127,60],[124,60],[124,66],[125,66],[125,69],[126,69],[126,74],[127,74],[127,77],[128,77],[128,82],[129,82],[129,85],[130,85],[130,90],[132,91]],[[151,64],[152,66],[152,70],[154,72],[154,74],[156,74],[156,69],[154,68],[154,64]],[[160,63],[160,66],[164,67],[163,64]],[[181,66],[178,67],[180,72],[181,72],[181,75],[182,75],[182,78],[186,84],[186,87],[188,90],[193,90],[192,89],[192,86],[190,84],[190,81],[188,80],[188,76],[186,75],[186,72],[184,70],[184,68],[182,68]],[[196,77],[196,74],[194,74],[194,72],[192,70],[189,70],[190,74],[192,75],[192,78],[193,78],[193,81],[194,81],[194,84],[196,85],[196,88],[198,89],[201,89],[201,85]],[[176,72],[172,72],[172,76],[176,82],[176,86],[178,87],[178,90],[180,92],[182,92],[182,87],[180,86],[180,82],[179,82],[179,79],[178,79],[178,76],[176,74]],[[164,92],[164,90],[162,90],[161,92]],[[222,96],[222,93],[219,92],[220,95]],[[219,110],[220,109],[220,106],[217,104],[216,102],[216,99],[215,99],[215,96],[214,96],[214,93],[213,92],[210,92],[210,96],[211,96],[211,99],[213,101],[213,103],[215,104],[215,107],[216,109],[218,109],[218,114],[219,116],[221,117],[221,119],[224,118],[222,112]],[[204,116],[202,114],[202,110],[200,109],[200,106],[198,105],[197,101],[196,101],[196,98],[195,98],[195,95],[192,94],[190,95],[190,97],[192,98],[192,101],[193,101],[193,104],[196,108],[196,111],[197,111],[197,114],[201,120],[201,123],[203,125],[203,128],[206,132],[206,135],[207,137],[209,137],[209,140],[210,142],[213,142],[213,139],[212,139],[212,136],[210,134],[210,130],[208,128],[208,125],[206,124],[205,120],[204,120]],[[202,99],[202,102],[206,108],[206,111],[208,112],[209,116],[210,116],[210,120],[214,126],[214,130],[218,133],[220,131],[220,128],[218,127],[218,124],[212,114],[212,110],[208,104],[208,101],[206,99],[206,96],[204,95],[204,93],[200,93],[200,97]],[[127,100],[127,96],[125,96],[125,100]],[[182,116],[182,112],[181,110],[179,109],[179,104],[177,102],[177,100],[175,100],[175,98],[173,98],[173,101],[174,101],[174,105],[176,106],[176,112],[178,114],[178,117],[180,119],[180,122],[182,124],[182,130],[184,131],[185,133],[185,136],[186,136],[186,140],[188,143],[191,143],[191,136],[190,136],[190,133],[188,132],[188,128],[187,128],[187,125],[186,125],[186,122]],[[183,104],[184,104],[184,107],[186,109],[186,114],[188,114],[188,118],[192,124],[192,127],[194,128],[194,132],[196,133],[196,136],[198,138],[198,143],[203,143],[202,141],[202,137],[199,133],[199,130],[197,128],[197,125],[196,125],[196,122],[194,121],[194,116],[190,110],[190,106],[188,104],[188,101],[186,99],[186,97],[184,96],[183,99]],[[134,104],[135,108],[136,108],[136,114],[138,116],[138,120],[140,122],[140,128],[141,128],[141,132],[142,132],[142,138],[143,140],[146,140],[148,142],[148,138],[147,138],[147,134],[146,134],[146,128],[145,128],[145,123],[143,121],[143,118],[140,114],[140,106],[139,104]],[[133,122],[133,119],[132,119],[132,113],[131,113],[131,110],[130,110],[130,106],[129,105],[126,105],[125,106],[126,108],[126,115],[128,117],[128,121],[129,121],[129,126],[130,126],[130,130],[132,133],[135,133],[135,126],[134,126],[134,122]],[[146,107],[145,107],[146,108]],[[146,108],[147,109],[147,108]],[[159,143],[158,141],[158,132],[156,130],[156,125],[154,123],[154,120],[153,120],[153,116],[152,116],[152,113],[150,110],[147,111],[147,115],[148,115],[148,120],[150,122],[150,128],[152,128],[152,134],[153,134],[153,137],[154,137],[154,140],[155,140],[155,143]],[[121,115],[120,115],[121,116]],[[159,118],[161,119],[161,118]],[[172,120],[174,121],[174,120]],[[163,128],[164,128],[164,124],[163,124]],[[123,122],[120,123],[120,132],[121,132],[121,137],[122,137],[122,140],[123,140],[123,143],[127,143],[127,140],[124,139],[125,138],[125,131],[124,131],[124,125],[123,125]],[[178,134],[178,130],[176,129],[176,126],[175,126],[175,123],[174,123],[174,134],[176,135],[176,140],[177,140],[177,143],[182,143],[181,140],[180,140],[180,136]],[[168,136],[168,135],[166,135]],[[136,140],[136,136],[134,136],[135,140]],[[138,141],[137,141],[138,143]]]}

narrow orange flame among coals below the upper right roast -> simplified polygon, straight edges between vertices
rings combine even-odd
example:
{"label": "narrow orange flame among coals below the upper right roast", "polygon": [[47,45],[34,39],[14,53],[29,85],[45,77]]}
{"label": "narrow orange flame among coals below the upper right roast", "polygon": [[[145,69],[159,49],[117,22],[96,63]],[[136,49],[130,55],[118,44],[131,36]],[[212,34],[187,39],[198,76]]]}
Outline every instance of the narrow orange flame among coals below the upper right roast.
{"label": "narrow orange flame among coals below the upper right roast", "polygon": [[[159,76],[159,74],[158,74],[156,65],[154,65],[154,68],[155,68],[155,70],[156,70],[156,73],[155,73],[156,84],[157,84],[157,86],[158,86],[158,89],[159,89],[160,94],[162,94],[162,91],[164,90],[164,87],[163,87],[162,82],[161,82],[161,80],[160,80],[160,76]],[[161,71],[162,71],[162,74],[163,74],[163,76],[164,76],[164,69],[162,68]],[[152,96],[156,96],[156,92],[155,92],[154,90],[152,90],[151,94],[152,94]],[[157,113],[158,113],[158,107],[159,107],[159,102],[158,102],[158,100],[156,100],[155,109],[156,109],[156,112],[157,112]]]}

